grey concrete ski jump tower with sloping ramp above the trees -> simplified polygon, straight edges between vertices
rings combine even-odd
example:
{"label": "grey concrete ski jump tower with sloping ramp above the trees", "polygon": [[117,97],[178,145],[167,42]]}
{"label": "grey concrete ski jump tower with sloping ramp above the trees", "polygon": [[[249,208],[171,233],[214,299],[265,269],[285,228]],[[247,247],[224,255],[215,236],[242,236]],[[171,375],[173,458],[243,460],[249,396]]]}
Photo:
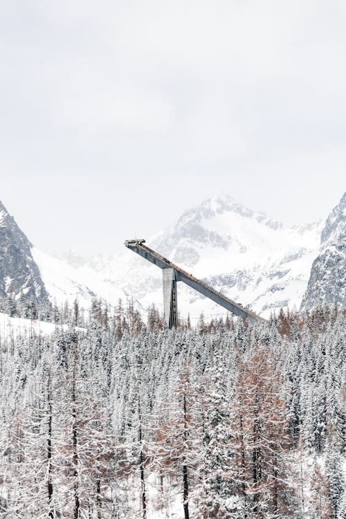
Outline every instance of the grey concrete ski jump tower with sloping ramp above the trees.
{"label": "grey concrete ski jump tower with sloping ramp above the trees", "polygon": [[257,316],[255,313],[249,310],[246,310],[246,308],[242,307],[242,304],[238,304],[231,299],[226,298],[225,295],[212,289],[206,283],[203,283],[203,281],[197,280],[197,278],[193,275],[183,271],[182,268],[179,268],[179,266],[174,265],[174,263],[170,262],[170,260],[167,260],[167,258],[161,256],[161,254],[158,254],[151,248],[147,247],[145,245],[145,239],[129,239],[125,242],[125,246],[130,248],[131,251],[134,251],[134,253],[144,257],[148,262],[154,263],[154,265],[162,269],[163,316],[168,327],[176,327],[178,322],[178,310],[176,303],[176,282],[178,281],[183,281],[188,286],[191,286],[192,289],[197,290],[197,292],[205,295],[207,298],[216,302],[221,307],[224,307],[226,310],[234,313],[235,316],[248,319],[251,322],[266,322],[266,320],[262,317]]}

